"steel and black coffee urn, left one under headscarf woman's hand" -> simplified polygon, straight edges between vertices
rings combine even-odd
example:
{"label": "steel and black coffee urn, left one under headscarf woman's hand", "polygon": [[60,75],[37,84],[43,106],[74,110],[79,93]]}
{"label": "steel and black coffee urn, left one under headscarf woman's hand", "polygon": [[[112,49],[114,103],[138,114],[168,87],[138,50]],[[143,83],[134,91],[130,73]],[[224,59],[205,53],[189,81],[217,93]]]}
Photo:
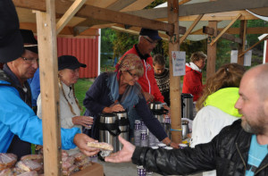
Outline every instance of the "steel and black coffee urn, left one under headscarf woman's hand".
{"label": "steel and black coffee urn, left one under headscarf woman's hand", "polygon": [[118,117],[114,113],[102,113],[99,123],[99,141],[113,146],[113,152],[117,152],[117,136],[120,134]]}

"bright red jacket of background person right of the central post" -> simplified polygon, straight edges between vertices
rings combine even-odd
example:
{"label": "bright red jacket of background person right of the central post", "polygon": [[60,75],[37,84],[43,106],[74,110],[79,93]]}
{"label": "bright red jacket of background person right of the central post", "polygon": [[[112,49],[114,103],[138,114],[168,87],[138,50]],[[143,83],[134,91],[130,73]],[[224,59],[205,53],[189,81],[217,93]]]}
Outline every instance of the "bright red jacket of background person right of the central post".
{"label": "bright red jacket of background person right of the central post", "polygon": [[202,73],[195,71],[186,65],[182,93],[193,95],[193,101],[195,102],[200,96],[202,96],[202,91]]}

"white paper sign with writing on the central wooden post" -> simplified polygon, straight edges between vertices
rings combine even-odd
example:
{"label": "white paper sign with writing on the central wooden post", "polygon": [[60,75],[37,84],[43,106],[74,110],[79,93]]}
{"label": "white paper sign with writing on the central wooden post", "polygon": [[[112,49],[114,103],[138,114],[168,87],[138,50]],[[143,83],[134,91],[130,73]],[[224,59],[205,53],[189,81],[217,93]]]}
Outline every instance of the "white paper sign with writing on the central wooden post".
{"label": "white paper sign with writing on the central wooden post", "polygon": [[185,52],[172,51],[173,76],[185,75]]}

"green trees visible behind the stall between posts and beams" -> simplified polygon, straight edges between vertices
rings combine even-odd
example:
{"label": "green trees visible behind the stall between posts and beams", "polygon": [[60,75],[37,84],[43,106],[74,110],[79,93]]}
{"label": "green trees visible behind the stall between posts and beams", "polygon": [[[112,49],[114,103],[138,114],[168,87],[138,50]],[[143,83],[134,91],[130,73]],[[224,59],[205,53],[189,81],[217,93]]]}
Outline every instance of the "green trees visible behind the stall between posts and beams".
{"label": "green trees visible behind the stall between posts and beams", "polygon": [[[148,5],[146,9],[154,8],[158,4],[163,4],[166,2],[165,0],[155,0],[152,4]],[[231,28],[239,28],[240,21],[236,21]],[[252,20],[247,21],[247,27],[267,27],[268,23],[262,20]],[[260,34],[249,34],[247,35],[247,47],[254,45],[257,41]],[[237,37],[239,37],[237,35]],[[113,70],[114,59],[117,61],[128,51],[134,44],[138,43],[138,36],[123,33],[114,29],[102,29],[102,41],[101,41],[101,52],[105,53],[101,56],[101,66],[102,70]],[[160,41],[158,45],[155,47],[152,55],[154,54],[163,54],[168,61],[168,49],[169,49],[168,41]],[[216,59],[216,70],[224,63],[230,63],[230,51],[233,49],[238,49],[238,44],[230,42],[229,40],[219,39],[217,42],[217,59]],[[260,43],[255,46],[253,49],[252,56],[252,65],[262,63],[263,57],[263,49],[264,43]],[[206,39],[201,41],[189,41],[185,40],[180,45],[180,51],[186,52],[186,62],[189,62],[189,57],[192,53],[197,51],[203,51],[205,54],[207,53],[207,43]],[[112,61],[107,62],[112,59]],[[109,64],[106,64],[109,63]],[[166,62],[166,66],[169,66],[169,63]],[[205,71],[204,71],[205,76]]]}

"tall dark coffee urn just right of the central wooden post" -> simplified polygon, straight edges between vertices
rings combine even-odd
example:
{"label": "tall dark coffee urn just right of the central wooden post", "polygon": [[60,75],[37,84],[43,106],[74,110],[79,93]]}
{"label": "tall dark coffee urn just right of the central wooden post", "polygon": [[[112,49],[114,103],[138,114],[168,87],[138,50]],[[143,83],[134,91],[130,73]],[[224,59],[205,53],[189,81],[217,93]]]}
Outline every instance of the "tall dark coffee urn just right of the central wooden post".
{"label": "tall dark coffee urn just right of the central wooden post", "polygon": [[181,94],[181,118],[194,120],[193,97],[191,94]]}

